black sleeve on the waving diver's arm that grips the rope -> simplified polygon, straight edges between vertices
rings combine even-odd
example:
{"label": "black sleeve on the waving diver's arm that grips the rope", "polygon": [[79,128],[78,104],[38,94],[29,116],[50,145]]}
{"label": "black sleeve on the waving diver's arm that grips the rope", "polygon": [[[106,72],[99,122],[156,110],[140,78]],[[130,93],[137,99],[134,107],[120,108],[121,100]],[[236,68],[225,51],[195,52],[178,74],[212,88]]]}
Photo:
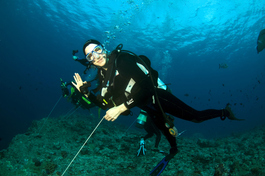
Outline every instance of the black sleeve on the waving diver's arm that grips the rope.
{"label": "black sleeve on the waving diver's arm that grips the rope", "polygon": [[149,75],[139,67],[139,64],[137,65],[135,56],[130,54],[120,56],[117,68],[119,74],[128,81],[124,90],[127,96],[124,105],[131,109],[135,106],[145,105],[150,101],[154,91],[153,84]]}

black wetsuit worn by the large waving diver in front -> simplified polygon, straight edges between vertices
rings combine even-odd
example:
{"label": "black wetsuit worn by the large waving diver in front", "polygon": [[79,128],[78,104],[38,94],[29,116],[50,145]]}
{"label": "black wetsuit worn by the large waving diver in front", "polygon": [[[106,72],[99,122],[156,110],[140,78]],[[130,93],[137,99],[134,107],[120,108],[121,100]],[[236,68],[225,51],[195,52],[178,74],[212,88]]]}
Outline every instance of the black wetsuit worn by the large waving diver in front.
{"label": "black wetsuit worn by the large waving diver in front", "polygon": [[[89,99],[93,102],[97,101],[95,104],[103,109],[111,108],[114,104],[116,106],[124,104],[128,109],[135,106],[143,109],[163,132],[171,147],[176,148],[176,138],[169,133],[165,126],[165,119],[154,97],[154,85],[150,75],[145,73],[144,64],[139,62],[137,56],[129,53],[114,51],[109,58],[107,71],[102,68],[98,70],[101,84],[97,90],[101,91],[101,95],[96,98],[90,94]],[[157,79],[157,77],[153,78]],[[153,82],[157,82],[157,80]],[[199,123],[229,115],[226,110],[197,111],[168,91],[155,89],[164,112],[175,117]]]}

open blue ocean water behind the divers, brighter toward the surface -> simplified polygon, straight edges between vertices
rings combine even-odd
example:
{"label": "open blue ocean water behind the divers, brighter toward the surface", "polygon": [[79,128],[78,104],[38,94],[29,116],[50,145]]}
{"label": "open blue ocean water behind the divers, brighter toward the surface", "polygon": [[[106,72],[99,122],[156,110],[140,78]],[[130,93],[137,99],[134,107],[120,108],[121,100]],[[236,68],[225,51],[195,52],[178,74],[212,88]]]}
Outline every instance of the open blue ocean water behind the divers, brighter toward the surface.
{"label": "open blue ocean water behind the divers, brighter toward the surface", "polygon": [[[256,0],[2,0],[0,147],[33,120],[48,116],[61,96],[59,78],[71,80],[84,70],[72,60],[72,50],[83,57],[82,46],[90,38],[109,50],[122,43],[148,56],[188,105],[203,110],[230,103],[245,119],[201,124],[176,119],[185,135],[213,138],[264,125],[265,51],[256,52],[264,28],[265,2]],[[72,107],[61,100],[51,118]],[[130,126],[134,119],[118,122]]]}

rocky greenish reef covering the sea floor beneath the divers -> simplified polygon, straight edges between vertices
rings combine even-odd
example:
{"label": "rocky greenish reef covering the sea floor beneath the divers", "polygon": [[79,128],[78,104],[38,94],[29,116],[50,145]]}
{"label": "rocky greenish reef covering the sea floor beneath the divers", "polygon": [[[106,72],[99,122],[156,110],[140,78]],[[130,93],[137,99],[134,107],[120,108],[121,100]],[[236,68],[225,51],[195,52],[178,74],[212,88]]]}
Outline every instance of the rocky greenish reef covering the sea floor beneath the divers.
{"label": "rocky greenish reef covering the sea floor beneath the divers", "polygon": [[[61,175],[99,121],[82,115],[46,120],[34,121],[25,134],[15,136],[9,148],[0,151],[0,176]],[[127,128],[103,121],[65,175],[148,175],[164,154],[151,150],[155,142],[151,138],[145,141],[146,155],[137,157],[143,131],[125,133]],[[161,175],[265,175],[264,139],[264,127],[211,140],[178,137],[180,152]],[[169,151],[164,137],[159,148]]]}

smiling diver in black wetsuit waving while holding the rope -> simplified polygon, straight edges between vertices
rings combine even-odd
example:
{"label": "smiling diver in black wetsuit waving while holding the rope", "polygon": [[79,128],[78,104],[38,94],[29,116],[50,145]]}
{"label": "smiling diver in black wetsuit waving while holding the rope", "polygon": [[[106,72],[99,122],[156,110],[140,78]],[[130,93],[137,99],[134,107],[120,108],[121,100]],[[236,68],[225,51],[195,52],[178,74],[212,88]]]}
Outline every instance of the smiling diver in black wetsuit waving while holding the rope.
{"label": "smiling diver in black wetsuit waving while holding the rope", "polygon": [[221,120],[242,120],[234,116],[228,105],[225,109],[198,111],[170,92],[157,88],[158,72],[149,65],[150,60],[146,61],[130,51],[122,50],[122,44],[109,54],[99,41],[91,39],[84,44],[83,52],[89,66],[98,68],[99,94],[96,96],[95,91],[89,91],[88,82],[83,82],[78,73],[74,74],[75,82],[72,84],[95,105],[108,109],[104,118],[114,121],[120,115],[129,114],[130,109],[137,106],[150,115],[170,143],[170,153],[150,175],[159,175],[178,153],[176,137],[173,136],[174,124],[165,113],[195,123],[217,117]]}

